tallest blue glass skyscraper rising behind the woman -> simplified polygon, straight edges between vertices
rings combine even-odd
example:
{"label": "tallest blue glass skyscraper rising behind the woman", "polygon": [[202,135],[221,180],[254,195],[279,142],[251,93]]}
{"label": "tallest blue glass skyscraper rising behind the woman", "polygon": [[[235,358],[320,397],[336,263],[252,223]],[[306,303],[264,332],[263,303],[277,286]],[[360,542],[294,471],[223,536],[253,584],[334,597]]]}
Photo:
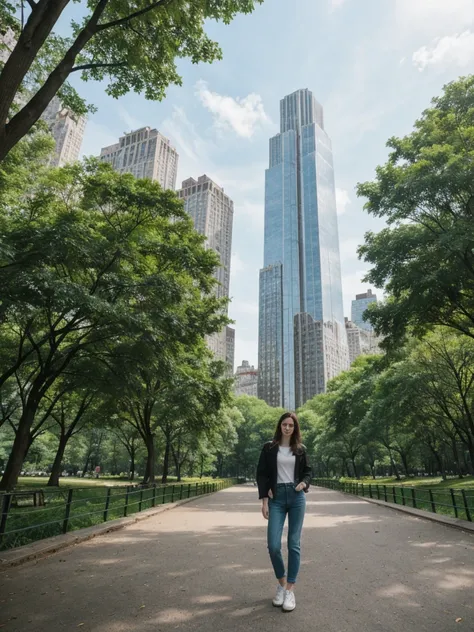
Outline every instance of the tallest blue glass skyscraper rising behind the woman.
{"label": "tallest blue glass skyscraper rising behind the woman", "polygon": [[331,141],[309,90],[280,102],[265,176],[258,392],[294,409],[349,366]]}

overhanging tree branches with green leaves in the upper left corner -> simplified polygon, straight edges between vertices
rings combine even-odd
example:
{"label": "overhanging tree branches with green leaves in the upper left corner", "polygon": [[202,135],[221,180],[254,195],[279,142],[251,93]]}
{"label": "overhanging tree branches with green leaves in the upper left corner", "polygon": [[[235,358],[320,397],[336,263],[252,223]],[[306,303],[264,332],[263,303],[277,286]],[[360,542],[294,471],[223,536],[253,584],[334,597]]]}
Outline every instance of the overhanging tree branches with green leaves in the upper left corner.
{"label": "overhanging tree branches with green leaves in the upper left corner", "polygon": [[[76,1],[83,19],[70,34],[54,33],[59,18]],[[107,81],[106,91],[118,98],[130,90],[147,99],[162,99],[170,84],[180,84],[176,60],[193,63],[221,58],[221,50],[205,32],[207,20],[229,23],[250,13],[261,0],[30,0],[24,28],[15,20],[20,0],[3,2],[0,25],[17,32],[18,41],[0,74],[0,162],[40,118],[51,99],[78,113],[87,106],[68,79]],[[15,99],[31,98],[16,113]]]}

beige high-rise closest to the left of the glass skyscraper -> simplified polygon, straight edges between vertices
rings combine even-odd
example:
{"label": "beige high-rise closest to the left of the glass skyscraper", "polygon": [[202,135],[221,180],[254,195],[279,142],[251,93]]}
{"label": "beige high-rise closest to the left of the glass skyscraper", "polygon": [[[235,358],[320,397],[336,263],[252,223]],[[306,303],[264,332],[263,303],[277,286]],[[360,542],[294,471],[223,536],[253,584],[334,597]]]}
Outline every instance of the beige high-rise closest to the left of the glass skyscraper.
{"label": "beige high-rise closest to the left of the glass skyscraper", "polygon": [[[197,181],[194,178],[184,180],[178,195],[184,200],[184,208],[193,218],[196,230],[206,236],[207,247],[219,255],[221,265],[215,272],[219,282],[216,296],[228,298],[234,203],[224,189],[206,175],[200,176]],[[219,360],[226,361],[228,357],[228,335],[227,328],[224,328],[208,337],[209,348]]]}

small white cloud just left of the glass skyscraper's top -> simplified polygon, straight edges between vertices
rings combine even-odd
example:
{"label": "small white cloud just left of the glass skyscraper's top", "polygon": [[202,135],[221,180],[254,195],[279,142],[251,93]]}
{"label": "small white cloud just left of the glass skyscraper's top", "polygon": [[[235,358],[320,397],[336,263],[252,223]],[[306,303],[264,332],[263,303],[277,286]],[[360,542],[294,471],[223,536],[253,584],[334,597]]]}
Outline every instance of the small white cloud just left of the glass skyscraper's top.
{"label": "small white cloud just left of the glass skyscraper's top", "polygon": [[269,122],[262,97],[252,93],[246,97],[224,96],[211,92],[205,81],[198,81],[196,94],[206,109],[214,115],[219,129],[232,129],[238,136],[251,138],[257,128]]}

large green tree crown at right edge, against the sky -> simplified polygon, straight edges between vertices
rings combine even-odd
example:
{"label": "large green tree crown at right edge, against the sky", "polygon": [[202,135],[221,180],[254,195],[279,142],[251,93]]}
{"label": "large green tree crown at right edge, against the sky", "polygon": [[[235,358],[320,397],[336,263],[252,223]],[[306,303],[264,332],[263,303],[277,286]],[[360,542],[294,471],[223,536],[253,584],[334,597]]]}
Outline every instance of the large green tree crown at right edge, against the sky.
{"label": "large green tree crown at right edge, against the sky", "polygon": [[474,76],[445,86],[414,131],[387,145],[376,179],[358,186],[389,225],[359,248],[366,280],[388,296],[369,319],[386,346],[433,325],[474,337]]}

